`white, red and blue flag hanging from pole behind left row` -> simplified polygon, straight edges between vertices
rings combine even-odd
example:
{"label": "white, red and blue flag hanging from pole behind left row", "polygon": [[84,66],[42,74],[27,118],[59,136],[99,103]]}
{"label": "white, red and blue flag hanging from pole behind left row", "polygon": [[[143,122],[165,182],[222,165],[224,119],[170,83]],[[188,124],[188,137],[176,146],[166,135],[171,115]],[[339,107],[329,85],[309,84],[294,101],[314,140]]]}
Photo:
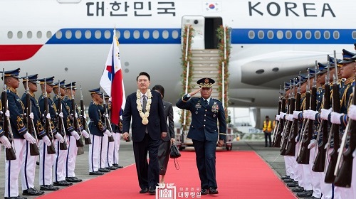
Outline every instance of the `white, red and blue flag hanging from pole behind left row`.
{"label": "white, red and blue flag hanging from pole behind left row", "polygon": [[100,86],[111,98],[111,122],[119,124],[119,117],[125,107],[125,87],[122,78],[119,41],[115,36],[115,29],[112,36],[112,44],[106,59],[103,75],[100,79]]}

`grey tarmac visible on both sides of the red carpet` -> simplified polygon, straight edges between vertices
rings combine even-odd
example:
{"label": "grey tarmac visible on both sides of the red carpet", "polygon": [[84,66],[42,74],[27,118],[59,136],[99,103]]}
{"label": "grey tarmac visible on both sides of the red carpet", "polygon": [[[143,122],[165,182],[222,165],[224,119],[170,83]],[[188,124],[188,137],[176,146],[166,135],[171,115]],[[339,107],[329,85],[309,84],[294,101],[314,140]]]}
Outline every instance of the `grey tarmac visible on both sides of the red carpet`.
{"label": "grey tarmac visible on both sides of the red carpet", "polygon": [[[1,146],[3,147],[3,146]],[[88,146],[84,146],[84,154],[77,156],[76,166],[75,166],[75,175],[83,179],[83,181],[88,181],[91,178],[96,178],[97,176],[89,175],[89,167],[88,167]],[[185,150],[192,150],[187,147]],[[217,150],[225,150],[218,148]],[[276,176],[280,178],[280,176],[286,175],[286,169],[284,164],[283,156],[279,155],[279,148],[273,147],[264,147],[264,141],[234,141],[232,146],[233,151],[256,151],[256,154],[261,156],[266,163],[273,169],[276,173]],[[226,151],[229,153],[229,151]],[[4,160],[4,148],[1,150],[0,157],[0,195],[4,195],[4,179],[5,179],[5,160]],[[120,141],[120,150],[119,150],[119,165],[120,166],[130,166],[135,163],[135,158],[133,156],[132,151],[132,142],[126,142],[124,140]],[[1,172],[2,171],[2,172]],[[236,177],[237,178],[237,177]],[[38,184],[38,166],[36,166],[36,178],[35,178],[35,188],[39,190]],[[61,187],[60,187],[61,188]],[[62,187],[63,188],[63,187]],[[46,193],[49,193],[46,191]],[[46,194],[45,193],[45,194]],[[19,174],[19,195],[22,194],[21,190],[21,173]],[[1,197],[1,196],[0,196]],[[36,198],[35,196],[26,196],[27,198]]]}

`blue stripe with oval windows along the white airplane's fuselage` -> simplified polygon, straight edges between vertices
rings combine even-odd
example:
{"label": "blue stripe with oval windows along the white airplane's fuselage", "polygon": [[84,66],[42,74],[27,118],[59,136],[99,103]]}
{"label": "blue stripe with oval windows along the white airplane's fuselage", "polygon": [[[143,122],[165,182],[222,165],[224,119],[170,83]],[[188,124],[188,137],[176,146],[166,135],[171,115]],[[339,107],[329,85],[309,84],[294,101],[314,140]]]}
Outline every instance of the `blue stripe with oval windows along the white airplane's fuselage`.
{"label": "blue stripe with oval windows along the white airplane's fuselage", "polygon": [[[180,28],[117,28],[122,44],[180,44]],[[127,36],[129,33],[130,36]],[[319,36],[318,36],[319,35]],[[136,36],[136,38],[135,38]],[[233,28],[232,44],[350,44],[355,29]],[[112,28],[63,28],[46,44],[108,44]]]}

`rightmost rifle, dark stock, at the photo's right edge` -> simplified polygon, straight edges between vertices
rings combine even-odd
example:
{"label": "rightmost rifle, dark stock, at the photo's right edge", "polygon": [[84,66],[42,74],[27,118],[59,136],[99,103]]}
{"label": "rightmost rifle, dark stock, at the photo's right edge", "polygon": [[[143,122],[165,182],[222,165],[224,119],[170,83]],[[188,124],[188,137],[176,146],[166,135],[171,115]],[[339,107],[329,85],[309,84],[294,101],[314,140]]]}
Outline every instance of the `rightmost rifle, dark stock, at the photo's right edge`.
{"label": "rightmost rifle, dark stock, at the photo's right edge", "polygon": [[[356,89],[355,86],[353,87],[353,95],[352,95],[352,104],[356,105]],[[340,146],[340,152],[339,155],[337,156],[337,162],[336,162],[336,167],[335,167],[335,172],[334,175],[336,176],[334,184],[338,187],[345,187],[345,188],[350,188],[351,186],[351,180],[352,180],[352,161],[353,161],[353,156],[352,153],[355,151],[356,148],[356,121],[349,119],[347,122],[347,127],[345,129],[345,132],[342,136],[342,141],[341,141],[341,146]],[[342,153],[343,149],[345,148],[346,144],[346,136],[350,134],[350,144],[349,148]],[[342,163],[340,166],[340,161],[342,158]],[[340,166],[340,168],[339,168]]]}

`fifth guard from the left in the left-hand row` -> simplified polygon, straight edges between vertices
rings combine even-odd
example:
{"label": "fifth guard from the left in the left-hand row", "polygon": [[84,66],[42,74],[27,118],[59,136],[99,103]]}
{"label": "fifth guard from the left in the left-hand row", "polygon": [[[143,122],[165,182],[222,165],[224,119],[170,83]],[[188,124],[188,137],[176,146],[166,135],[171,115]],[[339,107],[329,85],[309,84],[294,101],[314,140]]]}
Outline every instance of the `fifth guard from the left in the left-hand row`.
{"label": "fifth guard from the left in the left-hand row", "polygon": [[[88,134],[87,131],[84,130],[83,128],[83,123],[80,121],[78,117],[78,107],[77,104],[75,104],[75,101],[72,97],[75,97],[75,91],[77,90],[77,87],[75,87],[76,82],[70,82],[69,84],[66,85],[66,97],[64,98],[64,102],[66,102],[67,107],[68,107],[68,114],[71,114],[73,117],[73,112],[75,112],[76,116],[75,119],[77,121],[74,121],[72,118],[72,122],[77,122],[78,124],[78,129],[74,129],[77,133],[80,131],[80,133],[85,137],[88,138],[90,135]],[[73,110],[73,103],[74,102],[74,107],[75,110]],[[74,123],[73,123],[74,124]],[[73,125],[74,127],[74,125]],[[67,134],[68,135],[68,134]],[[79,134],[78,134],[79,135]],[[75,177],[75,159],[77,158],[77,152],[78,152],[78,146],[76,144],[76,140],[78,137],[69,137],[69,147],[68,147],[68,158],[66,161],[66,181],[72,182],[72,183],[78,183],[83,181],[82,179],[79,179]]]}

